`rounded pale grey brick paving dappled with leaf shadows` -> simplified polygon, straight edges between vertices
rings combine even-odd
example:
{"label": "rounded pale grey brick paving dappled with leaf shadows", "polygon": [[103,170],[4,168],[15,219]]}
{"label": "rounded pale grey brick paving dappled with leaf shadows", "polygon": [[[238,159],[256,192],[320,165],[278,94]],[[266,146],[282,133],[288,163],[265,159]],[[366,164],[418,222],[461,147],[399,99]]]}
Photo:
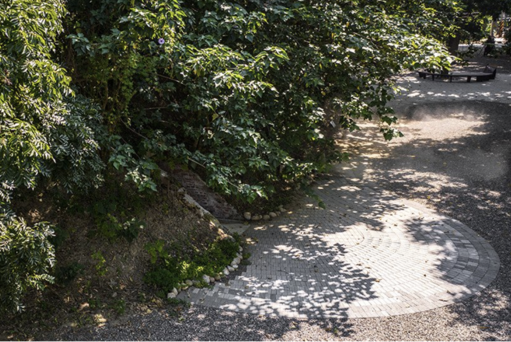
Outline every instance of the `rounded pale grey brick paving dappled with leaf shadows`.
{"label": "rounded pale grey brick paving dappled with leaf shadows", "polygon": [[246,232],[251,264],[194,303],[298,318],[419,312],[470,297],[496,277],[493,248],[466,225],[377,188],[324,180],[314,203]]}

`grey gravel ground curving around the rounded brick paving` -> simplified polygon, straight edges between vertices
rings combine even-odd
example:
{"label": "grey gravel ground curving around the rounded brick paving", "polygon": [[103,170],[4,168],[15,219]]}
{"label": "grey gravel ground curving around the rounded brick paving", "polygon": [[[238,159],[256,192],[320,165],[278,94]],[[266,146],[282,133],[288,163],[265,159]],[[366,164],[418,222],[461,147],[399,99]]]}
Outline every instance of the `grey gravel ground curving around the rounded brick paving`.
{"label": "grey gravel ground curving around the rounded brick paving", "polygon": [[502,266],[497,279],[480,293],[416,314],[347,320],[295,320],[192,306],[179,316],[153,311],[107,322],[101,328],[62,328],[44,338],[510,340],[511,107],[455,101],[429,103],[425,111],[425,107],[410,109],[410,101],[396,103],[406,138],[392,144],[375,143],[371,134],[376,134],[376,129],[365,127],[357,133],[360,135],[340,142],[363,157],[355,157],[349,168],[343,166],[338,171],[367,177],[385,189],[425,203],[488,240]]}

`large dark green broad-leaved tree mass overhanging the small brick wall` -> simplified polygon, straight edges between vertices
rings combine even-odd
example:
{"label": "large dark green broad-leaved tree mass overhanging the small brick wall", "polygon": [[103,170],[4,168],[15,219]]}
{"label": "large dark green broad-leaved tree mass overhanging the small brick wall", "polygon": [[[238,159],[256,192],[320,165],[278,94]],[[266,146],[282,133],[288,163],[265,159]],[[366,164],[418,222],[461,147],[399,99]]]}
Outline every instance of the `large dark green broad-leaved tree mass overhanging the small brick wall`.
{"label": "large dark green broad-leaved tree mass overhanging the small brick wall", "polygon": [[115,133],[110,163],[140,190],[155,189],[157,163],[179,164],[251,202],[346,157],[331,121],[376,117],[400,135],[391,76],[449,64],[429,5],[69,0],[66,62]]}

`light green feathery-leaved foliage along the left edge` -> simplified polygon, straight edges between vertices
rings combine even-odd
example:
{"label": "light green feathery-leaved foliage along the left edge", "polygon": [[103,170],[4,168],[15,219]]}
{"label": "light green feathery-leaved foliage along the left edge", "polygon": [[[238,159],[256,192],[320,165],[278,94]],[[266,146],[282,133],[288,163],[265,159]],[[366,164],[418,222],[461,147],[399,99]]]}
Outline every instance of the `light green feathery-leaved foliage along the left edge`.
{"label": "light green feathery-leaved foliage along the left edge", "polygon": [[61,0],[0,0],[0,310],[52,282],[51,225],[26,225],[11,209],[16,188],[41,180],[72,191],[101,183],[98,107],[74,97],[53,60],[66,13]]}

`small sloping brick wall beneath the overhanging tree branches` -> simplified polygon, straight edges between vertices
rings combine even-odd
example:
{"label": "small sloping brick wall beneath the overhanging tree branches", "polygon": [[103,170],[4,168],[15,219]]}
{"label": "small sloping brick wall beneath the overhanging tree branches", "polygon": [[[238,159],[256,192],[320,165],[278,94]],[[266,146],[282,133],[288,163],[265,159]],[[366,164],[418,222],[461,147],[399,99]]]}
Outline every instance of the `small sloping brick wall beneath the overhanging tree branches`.
{"label": "small sloping brick wall beneath the overhanging tree branches", "polygon": [[187,193],[213,216],[220,219],[243,219],[233,206],[227,203],[222,196],[211,190],[194,172],[182,170],[179,167],[173,170],[165,168],[164,171],[176,179]]}

